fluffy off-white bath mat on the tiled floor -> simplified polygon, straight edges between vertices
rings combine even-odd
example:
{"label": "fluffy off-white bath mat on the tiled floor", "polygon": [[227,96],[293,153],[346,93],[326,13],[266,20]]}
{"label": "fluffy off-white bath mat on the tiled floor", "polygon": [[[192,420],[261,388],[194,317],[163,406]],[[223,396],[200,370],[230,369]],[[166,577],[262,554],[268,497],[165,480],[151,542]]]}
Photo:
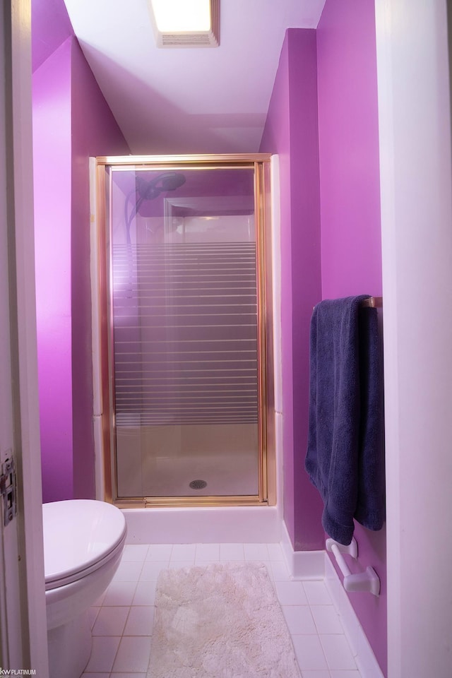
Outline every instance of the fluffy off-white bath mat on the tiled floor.
{"label": "fluffy off-white bath mat on the tiled floor", "polygon": [[148,678],[300,678],[266,566],[162,571]]}

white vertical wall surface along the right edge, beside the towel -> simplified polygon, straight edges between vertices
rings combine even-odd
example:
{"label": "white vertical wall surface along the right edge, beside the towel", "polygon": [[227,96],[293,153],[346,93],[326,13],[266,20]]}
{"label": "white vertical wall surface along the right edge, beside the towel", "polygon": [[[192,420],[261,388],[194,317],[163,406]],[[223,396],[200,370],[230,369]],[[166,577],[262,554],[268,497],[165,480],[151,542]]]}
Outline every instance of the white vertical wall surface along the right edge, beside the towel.
{"label": "white vertical wall surface along the right edge, beside the towel", "polygon": [[388,677],[452,671],[452,198],[446,0],[376,0]]}

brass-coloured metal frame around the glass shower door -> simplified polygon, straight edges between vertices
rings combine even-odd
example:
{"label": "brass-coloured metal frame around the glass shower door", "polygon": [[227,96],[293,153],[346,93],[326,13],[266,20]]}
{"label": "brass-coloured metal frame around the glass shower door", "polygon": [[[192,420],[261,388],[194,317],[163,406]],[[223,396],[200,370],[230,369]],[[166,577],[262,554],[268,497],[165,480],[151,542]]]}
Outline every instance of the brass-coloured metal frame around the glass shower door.
{"label": "brass-coloured metal frame around the glass shower door", "polygon": [[[273,506],[276,503],[275,408],[273,379],[273,313],[270,223],[270,155],[128,155],[95,159],[97,261],[100,299],[100,374],[102,384],[102,463],[105,496],[119,508],[152,506]],[[258,290],[258,494],[225,496],[133,496],[117,494],[112,340],[112,283],[109,261],[109,213],[106,168],[253,169]]]}

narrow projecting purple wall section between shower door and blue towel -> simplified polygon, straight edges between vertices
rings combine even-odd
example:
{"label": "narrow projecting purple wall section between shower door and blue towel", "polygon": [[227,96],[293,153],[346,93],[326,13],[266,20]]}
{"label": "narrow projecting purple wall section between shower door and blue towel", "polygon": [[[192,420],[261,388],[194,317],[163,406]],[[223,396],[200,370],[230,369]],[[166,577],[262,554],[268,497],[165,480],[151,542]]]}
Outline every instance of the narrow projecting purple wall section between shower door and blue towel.
{"label": "narrow projecting purple wall section between shower door and blue towel", "polygon": [[322,549],[321,499],[304,471],[309,321],[321,299],[315,30],[287,30],[260,150],[280,156],[284,519],[296,550]]}

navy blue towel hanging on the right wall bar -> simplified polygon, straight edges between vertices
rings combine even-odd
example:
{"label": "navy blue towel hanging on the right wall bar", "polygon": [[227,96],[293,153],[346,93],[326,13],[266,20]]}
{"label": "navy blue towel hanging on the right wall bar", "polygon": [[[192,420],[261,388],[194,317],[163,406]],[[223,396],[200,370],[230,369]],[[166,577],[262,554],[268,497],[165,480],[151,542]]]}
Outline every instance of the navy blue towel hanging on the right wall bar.
{"label": "navy blue towel hanging on the right wall bar", "polygon": [[350,544],[353,518],[384,522],[381,364],[377,311],[368,295],[326,299],[311,318],[306,470],[323,499],[322,525]]}

